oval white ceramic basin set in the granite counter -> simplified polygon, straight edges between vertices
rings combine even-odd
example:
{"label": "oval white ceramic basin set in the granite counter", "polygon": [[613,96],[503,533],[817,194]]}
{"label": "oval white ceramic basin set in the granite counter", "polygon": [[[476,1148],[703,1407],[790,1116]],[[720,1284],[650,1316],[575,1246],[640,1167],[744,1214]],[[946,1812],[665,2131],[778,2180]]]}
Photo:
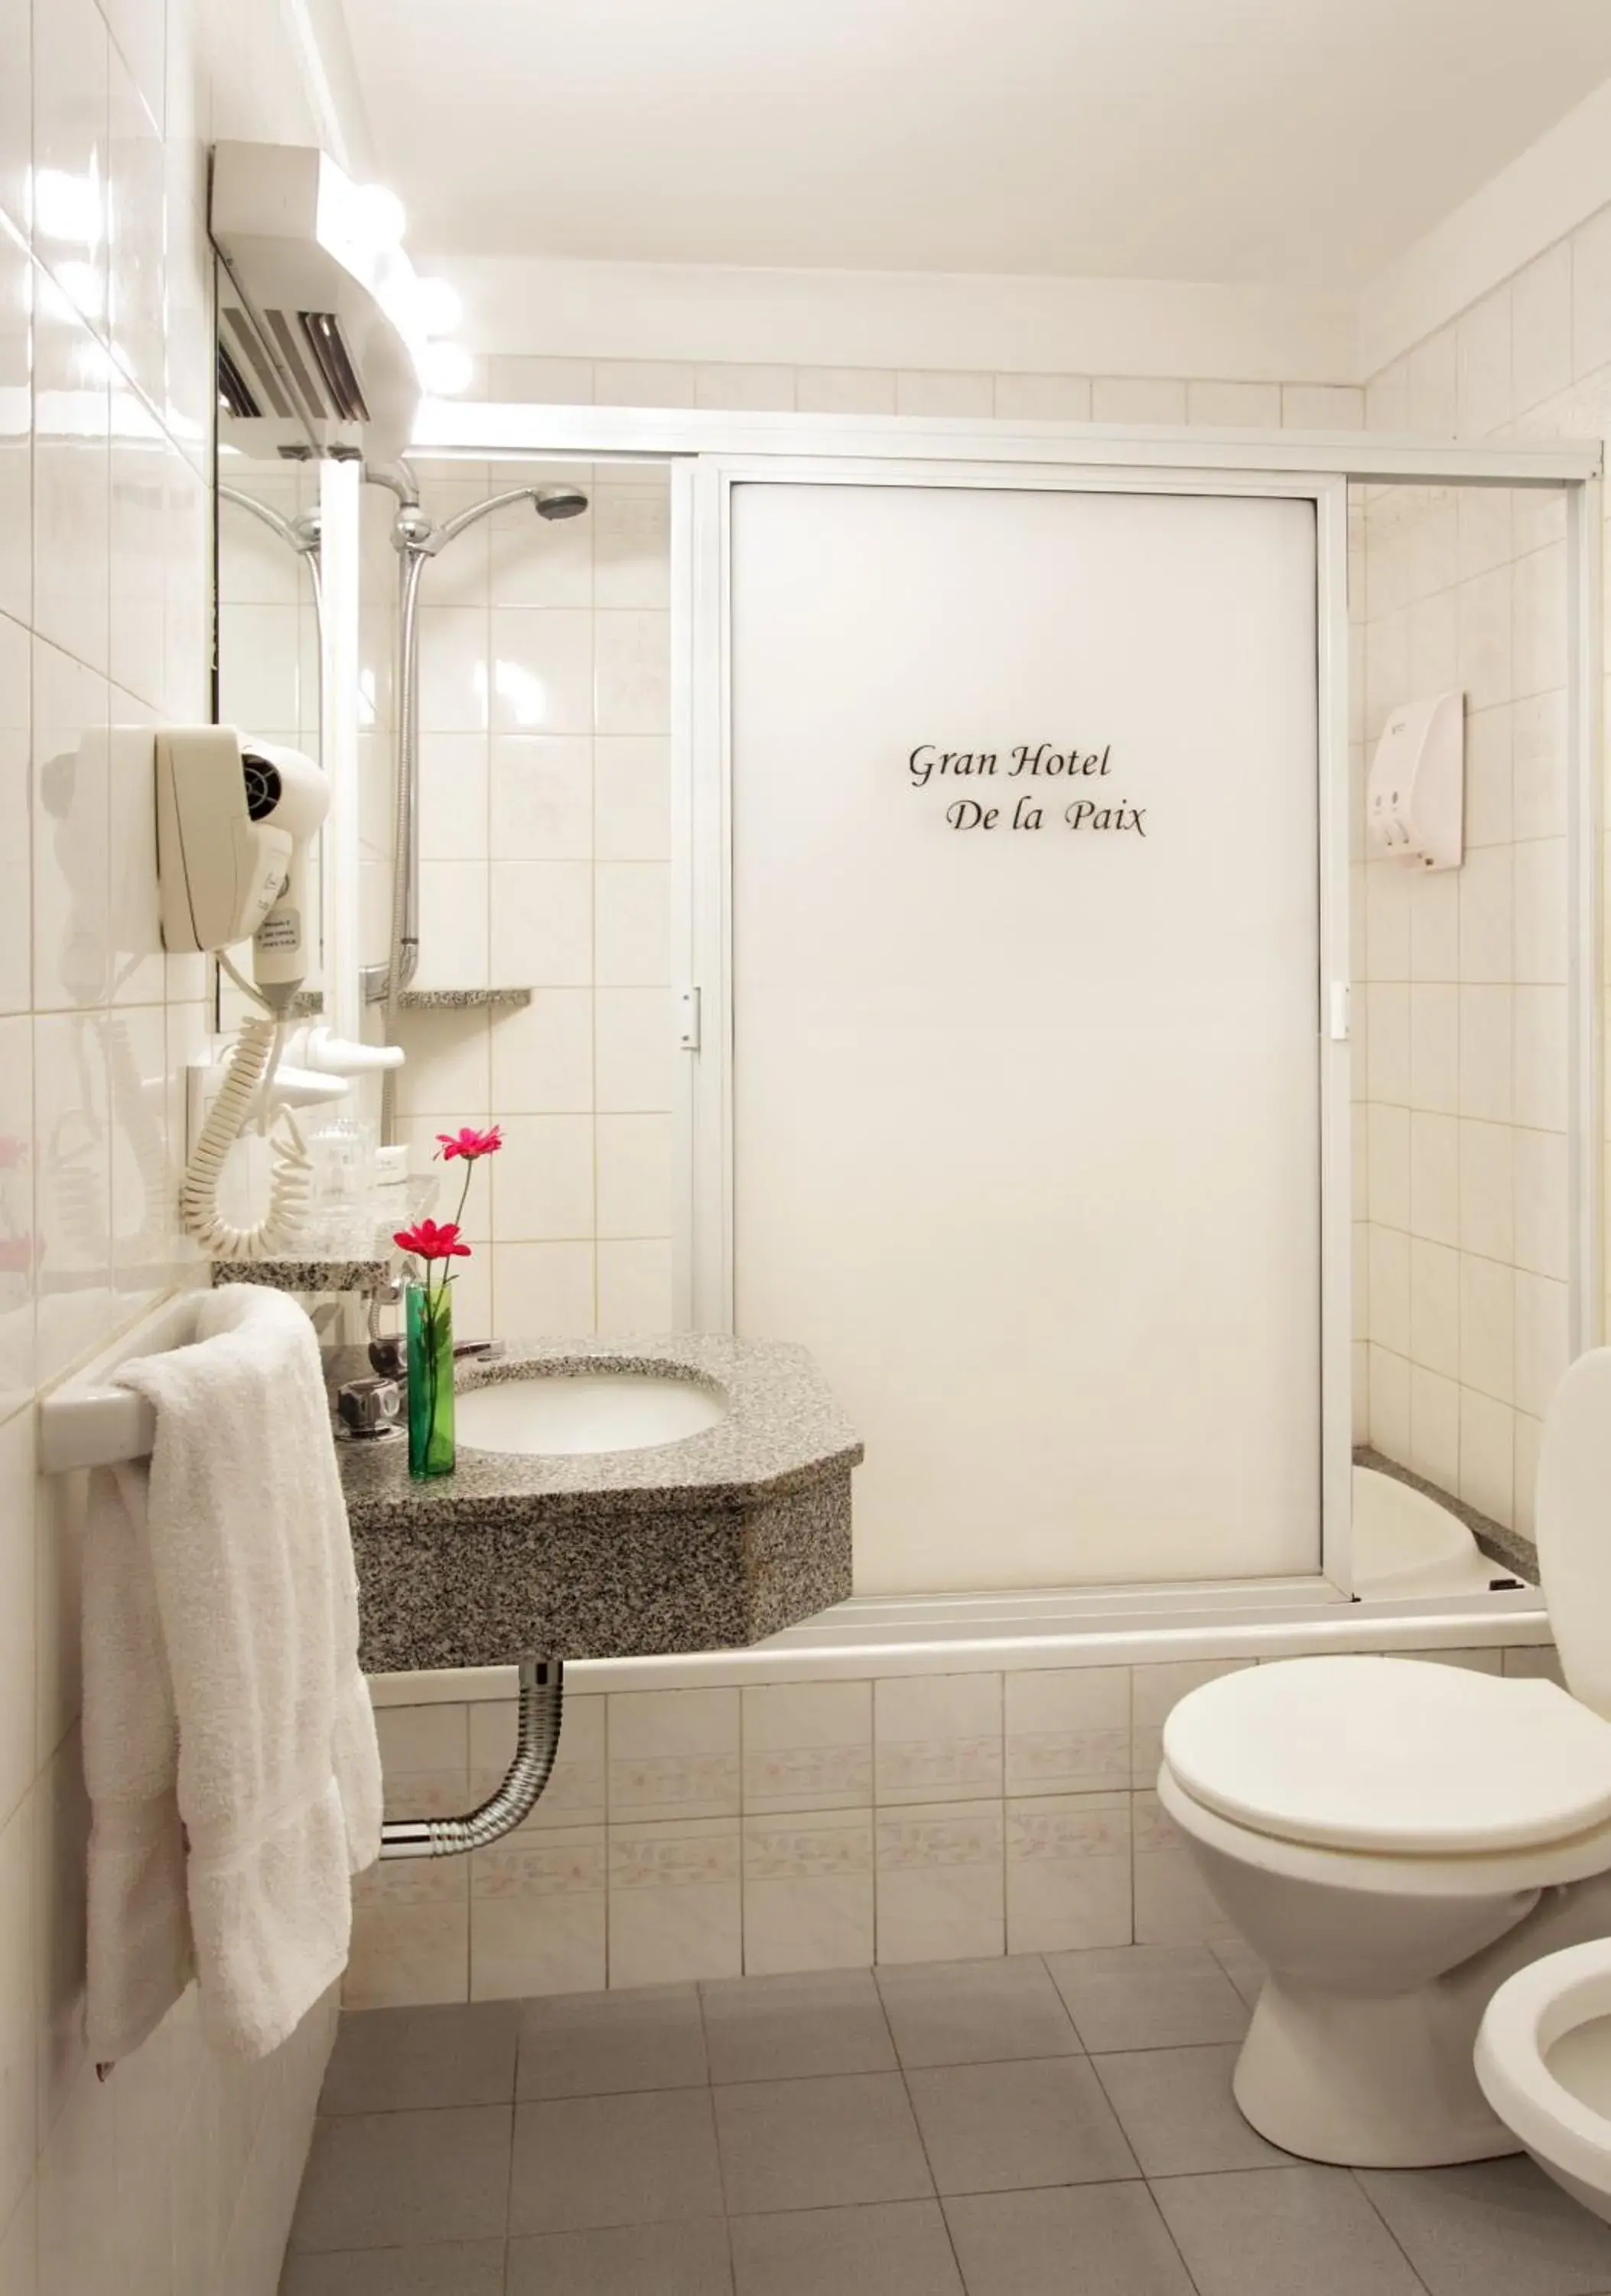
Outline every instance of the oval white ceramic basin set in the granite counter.
{"label": "oval white ceramic basin set in the granite counter", "polygon": [[727,1417],[714,1387],[654,1371],[535,1371],[464,1387],[454,1398],[461,1444],[473,1451],[647,1451],[700,1435]]}

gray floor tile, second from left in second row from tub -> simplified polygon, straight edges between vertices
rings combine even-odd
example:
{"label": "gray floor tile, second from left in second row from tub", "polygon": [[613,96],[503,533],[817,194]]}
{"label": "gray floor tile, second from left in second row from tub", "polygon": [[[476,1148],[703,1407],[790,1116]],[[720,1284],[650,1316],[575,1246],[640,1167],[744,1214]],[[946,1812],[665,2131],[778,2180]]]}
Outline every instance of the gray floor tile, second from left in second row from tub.
{"label": "gray floor tile, second from left in second row from tub", "polygon": [[565,2096],[514,2110],[509,2232],[721,2216],[709,2089]]}

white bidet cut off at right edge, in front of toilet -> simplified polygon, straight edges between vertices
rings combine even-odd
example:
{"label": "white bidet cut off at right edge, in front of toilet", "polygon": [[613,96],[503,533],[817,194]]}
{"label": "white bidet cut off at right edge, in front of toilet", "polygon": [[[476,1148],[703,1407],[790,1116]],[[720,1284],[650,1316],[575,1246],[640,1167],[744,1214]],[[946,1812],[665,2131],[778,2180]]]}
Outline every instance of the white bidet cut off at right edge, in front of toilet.
{"label": "white bidet cut off at right edge, in front of toilet", "polygon": [[1611,2220],[1611,1938],[1505,1979],[1478,2030],[1476,2073],[1538,2165]]}

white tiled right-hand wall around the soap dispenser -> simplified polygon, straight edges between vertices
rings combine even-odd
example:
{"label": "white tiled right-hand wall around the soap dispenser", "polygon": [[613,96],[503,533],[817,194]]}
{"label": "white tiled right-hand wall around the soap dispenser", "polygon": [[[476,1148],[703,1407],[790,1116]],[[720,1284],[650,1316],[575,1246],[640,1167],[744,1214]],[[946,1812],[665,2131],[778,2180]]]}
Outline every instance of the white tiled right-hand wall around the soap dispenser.
{"label": "white tiled right-hand wall around the soap dispenser", "polygon": [[[1604,436],[1611,209],[1379,374],[1372,427]],[[1393,703],[1466,693],[1466,861],[1359,870],[1361,1433],[1531,1529],[1567,1362],[1565,514],[1377,489],[1356,528],[1356,767]],[[1363,859],[1363,847],[1361,847]]]}

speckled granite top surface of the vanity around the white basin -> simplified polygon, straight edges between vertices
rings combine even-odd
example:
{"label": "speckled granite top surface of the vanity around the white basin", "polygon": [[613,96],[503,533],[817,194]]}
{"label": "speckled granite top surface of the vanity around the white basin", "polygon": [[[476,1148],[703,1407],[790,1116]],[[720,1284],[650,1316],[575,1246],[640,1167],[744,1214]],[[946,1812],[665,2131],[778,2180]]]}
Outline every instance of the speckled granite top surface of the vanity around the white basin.
{"label": "speckled granite top surface of the vanity around the white basin", "polygon": [[[337,1350],[333,1384],[367,1371],[363,1348]],[[493,1362],[459,1364],[459,1391],[519,1380],[532,1368],[581,1375],[601,1368],[695,1380],[721,1389],[727,1412],[679,1442],[638,1451],[546,1456],[459,1444],[452,1474],[415,1483],[408,1444],[342,1442],[342,1483],[353,1529],[477,1522],[548,1525],[620,1513],[709,1513],[801,1490],[858,1465],[863,1446],[806,1348],[789,1341],[677,1332],[668,1339],[509,1341]]]}

